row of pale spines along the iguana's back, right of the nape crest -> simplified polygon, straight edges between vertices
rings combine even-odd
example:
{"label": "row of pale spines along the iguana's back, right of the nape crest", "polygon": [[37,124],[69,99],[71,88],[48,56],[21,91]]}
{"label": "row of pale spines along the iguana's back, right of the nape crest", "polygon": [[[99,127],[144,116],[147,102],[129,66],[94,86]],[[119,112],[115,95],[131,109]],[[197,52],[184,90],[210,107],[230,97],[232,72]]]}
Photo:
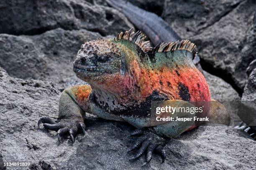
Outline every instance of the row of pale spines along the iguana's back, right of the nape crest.
{"label": "row of pale spines along the iguana's back, right of the nape crest", "polygon": [[161,43],[154,47],[153,51],[155,52],[168,52],[174,50],[187,50],[191,52],[193,55],[197,53],[197,47],[194,43],[189,40],[181,40],[175,42]]}

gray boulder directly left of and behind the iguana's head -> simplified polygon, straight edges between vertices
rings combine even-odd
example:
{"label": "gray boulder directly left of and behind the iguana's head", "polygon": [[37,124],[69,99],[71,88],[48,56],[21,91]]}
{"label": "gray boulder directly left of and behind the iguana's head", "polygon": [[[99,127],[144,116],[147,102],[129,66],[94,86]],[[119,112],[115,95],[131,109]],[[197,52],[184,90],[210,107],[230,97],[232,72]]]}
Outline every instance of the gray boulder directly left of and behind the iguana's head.
{"label": "gray boulder directly left of and behind the iguana's head", "polygon": [[75,75],[73,61],[81,44],[97,38],[96,32],[61,28],[33,36],[0,34],[0,67],[13,77],[61,85]]}

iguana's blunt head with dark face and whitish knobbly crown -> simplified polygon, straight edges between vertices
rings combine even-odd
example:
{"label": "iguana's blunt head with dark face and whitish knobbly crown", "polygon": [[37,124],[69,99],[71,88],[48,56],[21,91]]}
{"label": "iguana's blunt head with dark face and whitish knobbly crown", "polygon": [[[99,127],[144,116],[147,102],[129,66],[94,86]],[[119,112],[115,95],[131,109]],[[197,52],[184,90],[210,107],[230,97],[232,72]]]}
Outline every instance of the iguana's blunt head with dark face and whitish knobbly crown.
{"label": "iguana's blunt head with dark face and whitish knobbly crown", "polygon": [[110,40],[85,42],[73,63],[77,76],[85,81],[120,70],[120,51]]}

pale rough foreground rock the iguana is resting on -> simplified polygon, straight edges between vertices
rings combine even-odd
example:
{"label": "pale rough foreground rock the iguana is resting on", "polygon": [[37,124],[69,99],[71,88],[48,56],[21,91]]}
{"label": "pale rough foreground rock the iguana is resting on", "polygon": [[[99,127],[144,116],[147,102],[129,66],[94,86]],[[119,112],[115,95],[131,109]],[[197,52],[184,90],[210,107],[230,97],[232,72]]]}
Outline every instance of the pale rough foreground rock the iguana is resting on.
{"label": "pale rough foreground rock the iguana is resting on", "polygon": [[[121,122],[88,115],[87,133],[57,142],[55,132],[37,127],[42,116],[57,118],[60,92],[51,82],[21,80],[0,68],[0,157],[3,161],[28,161],[29,169],[139,170],[144,157],[128,161],[127,135],[134,129]],[[171,140],[166,162],[154,156],[143,169],[243,169],[255,168],[256,142],[246,133],[227,126],[202,126]],[[8,168],[12,169],[12,168]],[[13,168],[14,169],[14,168]]]}

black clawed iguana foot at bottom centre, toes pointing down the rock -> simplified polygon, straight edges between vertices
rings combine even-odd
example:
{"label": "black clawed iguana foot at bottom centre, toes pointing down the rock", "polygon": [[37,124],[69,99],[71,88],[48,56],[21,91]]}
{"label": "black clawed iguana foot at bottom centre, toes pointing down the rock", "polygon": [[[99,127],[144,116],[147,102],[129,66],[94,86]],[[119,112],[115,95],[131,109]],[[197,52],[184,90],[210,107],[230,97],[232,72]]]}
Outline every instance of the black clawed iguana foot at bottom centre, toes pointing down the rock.
{"label": "black clawed iguana foot at bottom centre, toes pointing down the rock", "polygon": [[139,146],[141,147],[138,149],[137,153],[129,160],[135,160],[139,158],[147,150],[146,162],[142,166],[151,161],[153,151],[160,153],[162,163],[164,163],[166,158],[166,151],[164,150],[164,146],[166,145],[167,140],[154,133],[154,131],[151,129],[137,129],[131,133],[130,136],[136,135],[140,136],[135,140],[128,152],[139,148]]}

